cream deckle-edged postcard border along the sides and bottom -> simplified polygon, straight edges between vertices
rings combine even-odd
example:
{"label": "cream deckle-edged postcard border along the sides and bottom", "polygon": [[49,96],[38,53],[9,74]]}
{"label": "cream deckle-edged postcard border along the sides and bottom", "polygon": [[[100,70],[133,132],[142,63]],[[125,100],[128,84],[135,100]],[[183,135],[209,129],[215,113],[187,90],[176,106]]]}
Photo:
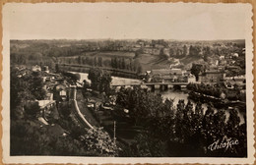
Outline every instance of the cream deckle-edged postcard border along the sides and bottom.
{"label": "cream deckle-edged postcard border along the sides and bottom", "polygon": [[[37,5],[37,4],[36,4]],[[44,4],[45,5],[45,4]],[[57,4],[62,6],[61,4]],[[73,4],[74,5],[74,4]],[[76,4],[79,5],[79,4]],[[118,4],[115,4],[118,6]],[[147,5],[147,4],[145,4]],[[156,4],[158,5],[158,4]],[[189,5],[197,5],[189,3]],[[222,6],[227,4],[212,4]],[[236,4],[237,5],[237,4]],[[253,43],[252,43],[252,6],[250,4],[239,4],[246,11],[246,105],[247,105],[247,158],[210,158],[210,157],[169,157],[169,158],[121,158],[121,157],[67,157],[67,156],[10,156],[10,25],[8,22],[11,4],[3,7],[3,94],[2,94],[2,127],[3,127],[3,162],[4,163],[83,163],[83,164],[102,164],[102,163],[217,163],[217,164],[252,164],[255,160],[254,153],[254,102],[253,102]]]}

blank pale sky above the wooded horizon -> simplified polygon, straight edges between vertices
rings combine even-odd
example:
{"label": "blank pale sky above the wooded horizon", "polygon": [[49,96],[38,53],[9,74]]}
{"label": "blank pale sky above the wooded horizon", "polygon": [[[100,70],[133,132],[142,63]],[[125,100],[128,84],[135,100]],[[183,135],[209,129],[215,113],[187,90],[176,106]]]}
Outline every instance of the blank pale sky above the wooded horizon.
{"label": "blank pale sky above the wooded horizon", "polygon": [[244,39],[246,10],[246,4],[20,3],[4,5],[3,18],[11,39],[215,40]]}

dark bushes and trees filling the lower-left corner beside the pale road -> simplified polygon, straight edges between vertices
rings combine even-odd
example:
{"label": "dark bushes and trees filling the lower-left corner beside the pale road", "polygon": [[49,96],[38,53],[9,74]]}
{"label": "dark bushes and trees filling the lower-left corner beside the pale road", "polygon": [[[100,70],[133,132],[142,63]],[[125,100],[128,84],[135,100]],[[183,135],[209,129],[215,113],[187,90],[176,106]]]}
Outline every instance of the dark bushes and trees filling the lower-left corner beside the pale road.
{"label": "dark bushes and trees filling the lower-left corner beside the pale road", "polygon": [[[49,125],[41,123],[37,119],[41,109],[34,102],[45,96],[40,73],[25,70],[11,69],[11,155],[118,154],[114,140],[101,128],[85,129],[67,102],[60,104],[59,117],[54,115],[56,107],[52,107],[47,121]],[[26,75],[20,77],[24,73]]]}

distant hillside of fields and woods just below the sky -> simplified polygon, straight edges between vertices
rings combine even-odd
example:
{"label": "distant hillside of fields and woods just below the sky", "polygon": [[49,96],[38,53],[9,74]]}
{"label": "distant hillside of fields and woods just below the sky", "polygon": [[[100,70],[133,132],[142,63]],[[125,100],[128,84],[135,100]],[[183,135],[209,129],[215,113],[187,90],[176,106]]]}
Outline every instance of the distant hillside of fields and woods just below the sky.
{"label": "distant hillside of fields and woods just below the sky", "polygon": [[186,69],[195,62],[210,63],[220,56],[237,53],[243,58],[234,66],[243,69],[243,48],[244,40],[11,40],[11,63],[47,65],[52,70],[54,63],[76,64],[140,74],[152,67],[168,67],[173,59]]}

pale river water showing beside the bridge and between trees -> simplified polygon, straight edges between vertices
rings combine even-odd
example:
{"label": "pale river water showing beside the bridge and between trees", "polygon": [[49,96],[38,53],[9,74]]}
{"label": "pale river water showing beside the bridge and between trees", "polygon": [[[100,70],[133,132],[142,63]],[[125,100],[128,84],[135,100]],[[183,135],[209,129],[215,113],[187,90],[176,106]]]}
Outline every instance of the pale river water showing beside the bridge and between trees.
{"label": "pale river water showing beside the bridge and between trees", "polygon": [[[71,73],[80,75],[81,77],[80,83],[82,83],[84,80],[91,83],[91,81],[88,79],[87,73],[76,73],[76,72],[71,72]],[[125,84],[125,83],[141,83],[141,81],[135,80],[135,79],[128,79],[128,78],[112,77],[112,84]],[[156,90],[155,92],[160,93],[163,98],[174,99],[173,101],[174,106],[176,106],[179,99],[183,99],[185,103],[187,103],[188,101],[188,93],[185,91],[168,89],[166,91]],[[193,100],[191,100],[191,102],[194,104],[194,108],[195,108],[196,103]],[[204,108],[204,112],[205,112],[207,110],[207,104],[206,103],[203,104],[202,107]],[[218,110],[216,109],[215,111],[218,111]],[[225,115],[227,120],[229,116],[229,110],[225,110]],[[244,123],[243,113],[239,112],[238,115],[240,117],[240,124]]]}

